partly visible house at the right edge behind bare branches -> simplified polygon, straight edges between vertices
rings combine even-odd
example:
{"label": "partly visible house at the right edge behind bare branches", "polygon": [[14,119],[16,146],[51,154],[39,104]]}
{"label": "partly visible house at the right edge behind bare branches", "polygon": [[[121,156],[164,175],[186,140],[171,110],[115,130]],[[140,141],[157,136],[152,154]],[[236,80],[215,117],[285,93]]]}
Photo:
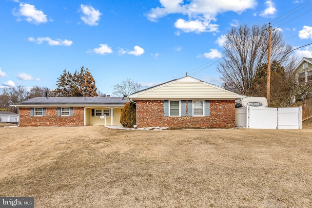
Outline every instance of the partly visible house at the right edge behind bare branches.
{"label": "partly visible house at the right edge behind bare branches", "polygon": [[302,58],[295,67],[296,95],[294,101],[312,96],[312,58]]}

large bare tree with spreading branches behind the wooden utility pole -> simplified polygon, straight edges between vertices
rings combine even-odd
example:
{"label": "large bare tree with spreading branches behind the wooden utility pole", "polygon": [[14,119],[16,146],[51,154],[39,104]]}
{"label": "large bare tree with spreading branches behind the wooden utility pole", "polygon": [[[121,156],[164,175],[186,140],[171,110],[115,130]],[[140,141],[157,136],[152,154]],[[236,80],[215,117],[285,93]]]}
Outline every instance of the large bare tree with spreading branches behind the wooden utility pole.
{"label": "large bare tree with spreading branches behind the wooden utility pole", "polygon": [[[223,87],[241,95],[251,95],[254,78],[261,65],[268,62],[269,31],[267,25],[233,27],[224,43],[223,61],[217,66],[224,81]],[[292,50],[285,45],[278,30],[272,32],[271,59],[287,64]]]}

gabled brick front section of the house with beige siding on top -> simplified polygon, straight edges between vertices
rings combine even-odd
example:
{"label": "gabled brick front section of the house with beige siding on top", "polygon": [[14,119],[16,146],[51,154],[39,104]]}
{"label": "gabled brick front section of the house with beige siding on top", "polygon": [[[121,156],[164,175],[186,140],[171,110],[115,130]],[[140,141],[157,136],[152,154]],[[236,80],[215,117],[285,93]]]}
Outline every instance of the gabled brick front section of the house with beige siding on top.
{"label": "gabled brick front section of the house with beige siding on top", "polygon": [[243,97],[191,76],[128,96],[137,103],[137,128],[233,128],[235,99]]}

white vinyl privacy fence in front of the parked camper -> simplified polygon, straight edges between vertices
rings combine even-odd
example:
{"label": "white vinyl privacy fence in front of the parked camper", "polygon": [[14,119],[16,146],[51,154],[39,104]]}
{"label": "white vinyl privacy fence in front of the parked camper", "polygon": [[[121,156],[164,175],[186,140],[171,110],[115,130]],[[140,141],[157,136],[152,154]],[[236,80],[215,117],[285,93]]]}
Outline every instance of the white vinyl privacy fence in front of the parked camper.
{"label": "white vinyl privacy fence in front of the parked camper", "polygon": [[302,108],[236,108],[236,127],[249,129],[302,129]]}

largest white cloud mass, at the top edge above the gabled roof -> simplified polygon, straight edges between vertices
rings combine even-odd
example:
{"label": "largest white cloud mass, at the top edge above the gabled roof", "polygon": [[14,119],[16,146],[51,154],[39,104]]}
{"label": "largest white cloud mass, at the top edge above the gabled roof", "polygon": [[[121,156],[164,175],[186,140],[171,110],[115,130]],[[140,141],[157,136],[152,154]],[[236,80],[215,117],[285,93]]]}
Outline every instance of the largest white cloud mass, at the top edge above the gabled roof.
{"label": "largest white cloud mass, at the top edge above the gabled roof", "polygon": [[[188,19],[177,19],[175,26],[183,32],[216,32],[216,16],[219,13],[233,11],[241,13],[246,9],[251,9],[256,5],[255,0],[190,0],[185,3],[183,0],[159,0],[161,7],[152,8],[147,18],[151,21],[170,14],[187,15]],[[176,35],[179,35],[176,32]]]}

